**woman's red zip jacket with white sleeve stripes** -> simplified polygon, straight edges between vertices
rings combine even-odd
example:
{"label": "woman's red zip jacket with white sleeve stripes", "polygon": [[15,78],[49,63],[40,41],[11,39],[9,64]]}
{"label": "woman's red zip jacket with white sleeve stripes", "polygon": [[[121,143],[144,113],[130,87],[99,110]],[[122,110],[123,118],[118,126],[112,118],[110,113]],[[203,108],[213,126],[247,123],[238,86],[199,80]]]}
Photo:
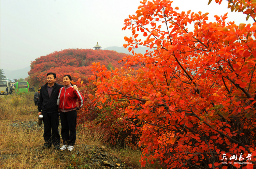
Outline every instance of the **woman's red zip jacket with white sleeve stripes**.
{"label": "woman's red zip jacket with white sleeve stripes", "polygon": [[60,93],[60,103],[59,103],[59,109],[62,112],[68,112],[72,110],[76,110],[76,101],[78,99],[79,106],[77,109],[81,109],[84,105],[84,97],[83,95],[78,91],[74,91],[71,84],[69,86],[64,86],[59,89]]}

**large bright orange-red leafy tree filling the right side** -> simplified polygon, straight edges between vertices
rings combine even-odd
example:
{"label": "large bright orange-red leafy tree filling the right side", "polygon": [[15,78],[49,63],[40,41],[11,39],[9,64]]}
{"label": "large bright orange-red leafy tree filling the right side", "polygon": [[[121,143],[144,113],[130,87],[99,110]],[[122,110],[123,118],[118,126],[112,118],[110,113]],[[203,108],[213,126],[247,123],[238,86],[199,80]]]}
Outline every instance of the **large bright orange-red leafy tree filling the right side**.
{"label": "large bright orange-red leafy tree filling the right side", "polygon": [[[256,159],[255,1],[229,0],[231,11],[254,19],[253,25],[239,26],[226,23],[227,14],[207,22],[207,13],[178,13],[171,1],[141,3],[137,15],[125,19],[123,29],[130,29],[133,36],[125,37],[124,47],[144,45],[155,50],[127,56],[124,67],[111,71],[93,63],[91,81],[97,90],[89,97],[99,100],[99,109],[106,108],[108,99],[112,112],[124,106],[120,112],[125,115],[110,114],[110,120],[116,120],[108,125],[119,125],[115,133],[125,129],[139,133],[133,143],[142,150],[142,166],[159,160],[167,168],[226,168],[222,162],[235,162],[231,157],[236,154],[244,158],[239,162],[252,164],[232,163],[231,167],[252,168]],[[186,28],[188,24],[194,24],[194,31]],[[139,35],[146,39],[137,39]],[[124,75],[133,65],[140,68]],[[129,123],[122,125],[118,119]]]}

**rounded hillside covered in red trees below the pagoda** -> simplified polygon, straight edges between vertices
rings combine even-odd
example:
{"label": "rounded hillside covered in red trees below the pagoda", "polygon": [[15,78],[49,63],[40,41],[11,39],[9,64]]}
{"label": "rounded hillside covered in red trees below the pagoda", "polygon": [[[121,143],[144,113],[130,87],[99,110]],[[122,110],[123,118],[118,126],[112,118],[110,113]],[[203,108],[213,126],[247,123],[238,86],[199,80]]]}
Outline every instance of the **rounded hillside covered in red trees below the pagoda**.
{"label": "rounded hillside covered in red trees below the pagoda", "polygon": [[46,83],[46,74],[54,72],[57,75],[57,83],[61,83],[61,77],[70,74],[87,79],[92,75],[90,64],[101,62],[109,70],[112,67],[121,67],[123,63],[118,63],[127,54],[118,53],[113,50],[93,50],[93,49],[65,49],[55,51],[46,56],[41,56],[31,62],[29,74],[29,84],[42,86]]}

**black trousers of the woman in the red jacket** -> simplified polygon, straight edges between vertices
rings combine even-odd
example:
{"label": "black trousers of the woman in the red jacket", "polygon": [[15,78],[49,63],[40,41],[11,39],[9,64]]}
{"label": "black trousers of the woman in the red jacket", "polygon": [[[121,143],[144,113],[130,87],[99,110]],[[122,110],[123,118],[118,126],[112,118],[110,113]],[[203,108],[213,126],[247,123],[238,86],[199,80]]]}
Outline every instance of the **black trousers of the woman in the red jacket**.
{"label": "black trousers of the woman in the red jacket", "polygon": [[60,112],[61,137],[64,145],[75,145],[76,110]]}

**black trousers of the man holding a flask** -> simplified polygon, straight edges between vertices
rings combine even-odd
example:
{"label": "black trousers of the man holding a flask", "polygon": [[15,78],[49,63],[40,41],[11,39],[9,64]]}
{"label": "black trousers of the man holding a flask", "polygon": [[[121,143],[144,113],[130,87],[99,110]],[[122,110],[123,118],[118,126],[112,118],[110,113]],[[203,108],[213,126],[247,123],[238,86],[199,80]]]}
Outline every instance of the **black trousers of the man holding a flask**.
{"label": "black trousers of the man holding a flask", "polygon": [[45,146],[54,147],[60,145],[60,135],[59,135],[59,112],[45,113],[42,112],[43,122],[44,122],[44,141]]}

